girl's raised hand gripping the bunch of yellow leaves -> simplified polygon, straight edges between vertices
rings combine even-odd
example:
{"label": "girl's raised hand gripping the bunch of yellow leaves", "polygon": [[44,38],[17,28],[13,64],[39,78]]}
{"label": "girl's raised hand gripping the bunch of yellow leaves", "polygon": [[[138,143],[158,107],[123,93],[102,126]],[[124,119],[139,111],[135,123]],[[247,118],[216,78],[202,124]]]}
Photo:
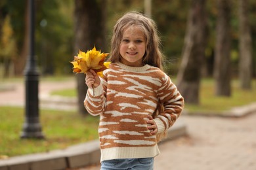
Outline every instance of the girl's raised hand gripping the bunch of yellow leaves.
{"label": "girl's raised hand gripping the bunch of yellow leaves", "polygon": [[100,85],[100,77],[93,71],[93,69],[86,72],[85,84],[88,88],[96,88]]}

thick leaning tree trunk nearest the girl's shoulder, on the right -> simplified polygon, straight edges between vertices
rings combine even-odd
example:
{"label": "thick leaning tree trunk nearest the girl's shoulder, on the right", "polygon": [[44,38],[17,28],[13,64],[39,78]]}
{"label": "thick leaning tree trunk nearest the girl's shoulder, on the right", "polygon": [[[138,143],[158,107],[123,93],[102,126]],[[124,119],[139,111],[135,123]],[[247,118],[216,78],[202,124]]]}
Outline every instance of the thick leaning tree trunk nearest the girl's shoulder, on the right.
{"label": "thick leaning tree trunk nearest the girl's shoulder, on the right", "polygon": [[186,103],[199,104],[201,66],[207,41],[205,0],[194,0],[188,15],[188,26],[177,76],[177,86]]}

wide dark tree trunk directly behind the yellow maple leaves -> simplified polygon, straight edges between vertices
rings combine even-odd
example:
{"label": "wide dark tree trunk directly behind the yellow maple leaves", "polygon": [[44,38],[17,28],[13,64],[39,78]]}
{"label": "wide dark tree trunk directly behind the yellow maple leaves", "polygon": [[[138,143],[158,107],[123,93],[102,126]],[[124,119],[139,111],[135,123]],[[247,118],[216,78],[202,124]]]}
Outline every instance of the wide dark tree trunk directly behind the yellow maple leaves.
{"label": "wide dark tree trunk directly behind the yellow maple leaves", "polygon": [[[75,0],[75,55],[78,50],[87,52],[93,46],[106,52],[105,17],[106,1]],[[78,110],[81,114],[86,113],[83,105],[86,93],[85,75],[77,74]]]}

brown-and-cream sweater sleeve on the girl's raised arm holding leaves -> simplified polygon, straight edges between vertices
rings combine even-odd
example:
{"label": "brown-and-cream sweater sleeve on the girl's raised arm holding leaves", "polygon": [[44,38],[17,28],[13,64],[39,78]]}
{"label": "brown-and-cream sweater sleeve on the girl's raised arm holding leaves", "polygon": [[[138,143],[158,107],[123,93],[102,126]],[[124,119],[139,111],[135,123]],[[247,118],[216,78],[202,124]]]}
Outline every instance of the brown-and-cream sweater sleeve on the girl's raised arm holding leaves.
{"label": "brown-and-cream sweater sleeve on the girl's raised arm holding leaves", "polygon": [[84,105],[89,114],[98,116],[102,114],[105,108],[106,96],[104,92],[104,80],[101,80],[97,88],[89,88],[85,97]]}

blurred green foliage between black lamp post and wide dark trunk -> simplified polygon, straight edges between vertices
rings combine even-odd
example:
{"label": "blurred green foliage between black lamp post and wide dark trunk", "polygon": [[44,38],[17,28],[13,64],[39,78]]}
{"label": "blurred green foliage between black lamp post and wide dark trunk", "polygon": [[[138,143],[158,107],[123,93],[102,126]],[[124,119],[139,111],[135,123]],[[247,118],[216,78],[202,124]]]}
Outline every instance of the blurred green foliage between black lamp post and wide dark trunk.
{"label": "blurred green foliage between black lamp post and wide dark trunk", "polygon": [[41,1],[37,14],[37,54],[43,74],[72,73],[73,8],[71,0]]}

